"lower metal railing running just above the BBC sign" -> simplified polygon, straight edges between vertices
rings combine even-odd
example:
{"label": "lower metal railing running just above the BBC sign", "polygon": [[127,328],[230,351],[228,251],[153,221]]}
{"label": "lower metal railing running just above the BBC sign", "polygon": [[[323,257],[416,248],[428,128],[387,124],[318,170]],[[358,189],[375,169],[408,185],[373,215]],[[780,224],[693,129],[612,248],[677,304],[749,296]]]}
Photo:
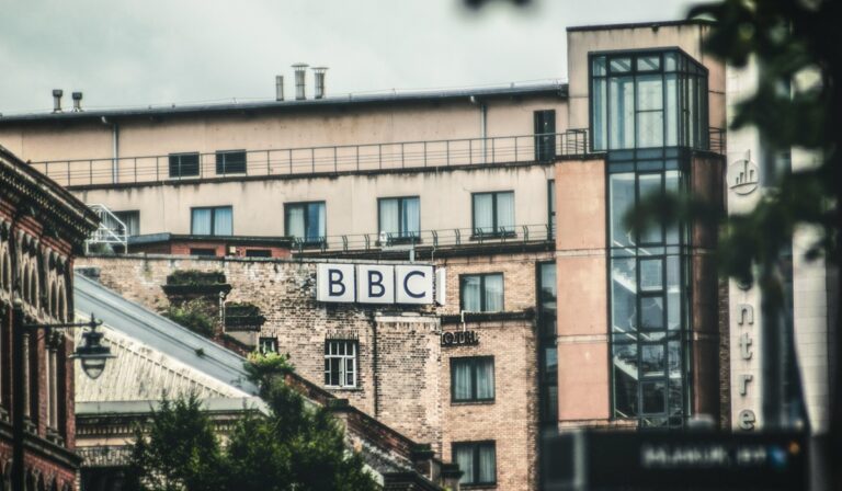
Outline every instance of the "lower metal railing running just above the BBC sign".
{"label": "lower metal railing running just above the BBC sign", "polygon": [[295,240],[293,249],[303,252],[409,252],[412,249],[443,247],[514,244],[555,240],[555,228],[549,224],[516,225],[503,230],[481,228],[452,228],[421,230],[410,233],[355,233],[327,236],[318,239]]}

